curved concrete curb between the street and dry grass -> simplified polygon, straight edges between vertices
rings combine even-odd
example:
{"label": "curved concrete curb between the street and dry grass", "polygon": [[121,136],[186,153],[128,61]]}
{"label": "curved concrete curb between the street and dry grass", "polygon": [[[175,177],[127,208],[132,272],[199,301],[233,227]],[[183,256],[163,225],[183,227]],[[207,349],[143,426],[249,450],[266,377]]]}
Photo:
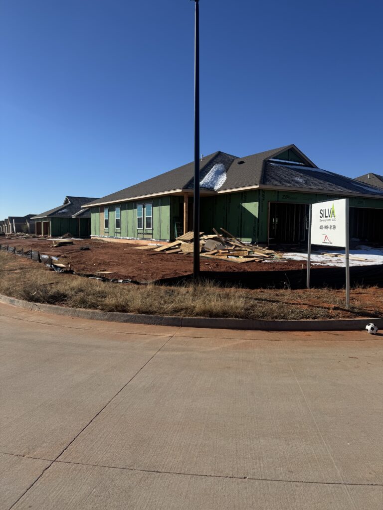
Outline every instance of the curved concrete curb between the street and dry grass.
{"label": "curved concrete curb between the street and dry grass", "polygon": [[344,319],[344,320],[250,320],[210,317],[166,317],[161,315],[127,314],[120,312],[102,312],[82,308],[59,307],[54,304],[33,303],[0,294],[0,302],[30,311],[38,311],[66,317],[104,320],[110,322],[128,322],[132,324],[150,324],[155,326],[203,327],[216,329],[254,329],[267,331],[352,331],[364,329],[373,322],[383,328],[383,319]]}

